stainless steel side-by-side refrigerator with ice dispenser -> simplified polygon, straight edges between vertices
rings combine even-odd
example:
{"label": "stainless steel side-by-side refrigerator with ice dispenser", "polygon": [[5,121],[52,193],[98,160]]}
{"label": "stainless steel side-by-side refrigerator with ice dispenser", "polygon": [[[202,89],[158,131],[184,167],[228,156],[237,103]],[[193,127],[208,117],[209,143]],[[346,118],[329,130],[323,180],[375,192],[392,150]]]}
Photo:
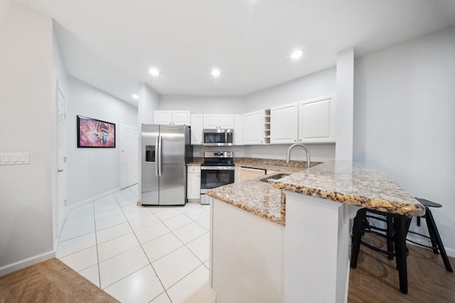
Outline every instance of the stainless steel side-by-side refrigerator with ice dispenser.
{"label": "stainless steel side-by-side refrigerator with ice dispenser", "polygon": [[186,203],[186,164],[193,161],[188,126],[142,124],[141,204]]}

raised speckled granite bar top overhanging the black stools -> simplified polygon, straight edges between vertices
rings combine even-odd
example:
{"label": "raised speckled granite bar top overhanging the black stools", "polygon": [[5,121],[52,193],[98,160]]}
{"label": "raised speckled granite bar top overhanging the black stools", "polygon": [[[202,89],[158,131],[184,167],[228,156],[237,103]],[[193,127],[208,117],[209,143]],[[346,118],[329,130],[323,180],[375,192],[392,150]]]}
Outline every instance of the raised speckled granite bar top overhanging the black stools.
{"label": "raised speckled granite bar top overhanging the black stools", "polygon": [[424,206],[368,162],[329,161],[284,177],[273,186],[289,192],[392,214],[422,216]]}

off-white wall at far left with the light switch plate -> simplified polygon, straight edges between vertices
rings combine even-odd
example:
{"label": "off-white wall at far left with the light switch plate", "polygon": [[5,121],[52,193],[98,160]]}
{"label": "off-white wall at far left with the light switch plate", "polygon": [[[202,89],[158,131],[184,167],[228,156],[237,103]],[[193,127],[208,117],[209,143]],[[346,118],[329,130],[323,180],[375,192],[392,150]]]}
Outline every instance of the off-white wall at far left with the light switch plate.
{"label": "off-white wall at far left with the light switch plate", "polygon": [[28,165],[0,166],[0,275],[52,258],[52,21],[0,1],[0,153],[28,152]]}

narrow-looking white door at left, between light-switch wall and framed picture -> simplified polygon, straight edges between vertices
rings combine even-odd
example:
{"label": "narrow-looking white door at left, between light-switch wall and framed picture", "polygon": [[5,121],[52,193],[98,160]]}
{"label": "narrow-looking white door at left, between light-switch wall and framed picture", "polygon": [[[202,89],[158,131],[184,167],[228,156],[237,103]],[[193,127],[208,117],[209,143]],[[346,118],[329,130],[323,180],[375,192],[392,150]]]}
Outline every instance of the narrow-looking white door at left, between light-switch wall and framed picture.
{"label": "narrow-looking white door at left, between light-switch wall and framed picture", "polygon": [[[68,214],[66,205],[66,101],[57,82],[57,230]],[[58,235],[57,235],[58,236]]]}

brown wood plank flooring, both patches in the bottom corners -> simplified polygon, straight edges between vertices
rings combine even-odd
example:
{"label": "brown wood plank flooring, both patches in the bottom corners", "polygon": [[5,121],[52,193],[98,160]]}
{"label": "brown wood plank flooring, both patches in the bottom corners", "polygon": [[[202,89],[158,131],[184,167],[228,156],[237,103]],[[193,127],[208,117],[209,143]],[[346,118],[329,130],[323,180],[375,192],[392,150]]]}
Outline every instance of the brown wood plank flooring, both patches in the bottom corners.
{"label": "brown wood plank flooring, both patches in the bottom corners", "polygon": [[[374,241],[377,246],[385,244],[382,239]],[[455,274],[446,271],[441,256],[417,246],[408,248],[408,294],[398,287],[395,260],[361,246],[358,266],[350,269],[348,302],[455,302]],[[455,259],[450,262],[454,267]],[[0,277],[0,302],[118,301],[54,258]]]}

